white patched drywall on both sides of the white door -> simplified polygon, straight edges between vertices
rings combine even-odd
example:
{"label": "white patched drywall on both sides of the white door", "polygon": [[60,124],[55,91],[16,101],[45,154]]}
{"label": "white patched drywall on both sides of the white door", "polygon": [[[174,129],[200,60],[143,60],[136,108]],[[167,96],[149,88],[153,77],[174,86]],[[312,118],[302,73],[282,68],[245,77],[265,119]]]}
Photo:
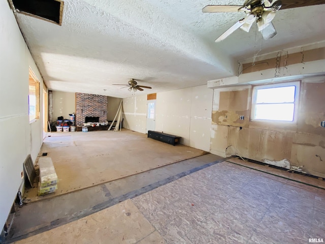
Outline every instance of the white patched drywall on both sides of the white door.
{"label": "white patched drywall on both sides of the white door", "polygon": [[[181,136],[181,144],[210,150],[213,90],[206,85],[157,93],[155,130]],[[123,99],[124,128],[146,133],[147,96]]]}

